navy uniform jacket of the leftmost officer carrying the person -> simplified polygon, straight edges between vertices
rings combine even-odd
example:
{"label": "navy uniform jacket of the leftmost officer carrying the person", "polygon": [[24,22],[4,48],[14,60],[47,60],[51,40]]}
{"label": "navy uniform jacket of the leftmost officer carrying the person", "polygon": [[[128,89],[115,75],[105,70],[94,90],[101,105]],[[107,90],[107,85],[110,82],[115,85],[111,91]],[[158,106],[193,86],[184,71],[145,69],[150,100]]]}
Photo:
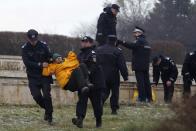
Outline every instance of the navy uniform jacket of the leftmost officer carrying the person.
{"label": "navy uniform jacket of the leftmost officer carrying the person", "polygon": [[50,50],[44,42],[38,41],[35,46],[27,42],[22,46],[22,59],[28,78],[48,78],[51,80],[51,77],[42,76],[42,63],[49,62],[50,58]]}

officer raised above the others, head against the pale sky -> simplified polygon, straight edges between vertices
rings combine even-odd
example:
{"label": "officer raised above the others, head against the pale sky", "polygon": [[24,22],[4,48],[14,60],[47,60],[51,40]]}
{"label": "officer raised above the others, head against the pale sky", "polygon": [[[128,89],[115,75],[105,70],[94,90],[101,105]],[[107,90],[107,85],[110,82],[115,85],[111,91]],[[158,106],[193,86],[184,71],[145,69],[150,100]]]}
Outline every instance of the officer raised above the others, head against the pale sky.
{"label": "officer raised above the others, head against the pale sky", "polygon": [[99,45],[105,44],[107,36],[116,36],[116,16],[120,11],[117,4],[112,4],[103,9],[97,22],[96,41]]}

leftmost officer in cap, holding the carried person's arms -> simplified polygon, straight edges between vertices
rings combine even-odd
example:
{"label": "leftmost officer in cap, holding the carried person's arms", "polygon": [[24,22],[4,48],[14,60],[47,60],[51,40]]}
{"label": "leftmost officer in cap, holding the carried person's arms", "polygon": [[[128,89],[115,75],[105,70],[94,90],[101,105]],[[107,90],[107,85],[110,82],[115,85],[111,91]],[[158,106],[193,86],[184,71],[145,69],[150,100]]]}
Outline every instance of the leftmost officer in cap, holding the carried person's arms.
{"label": "leftmost officer in cap, holding the carried person's arms", "polygon": [[36,30],[30,29],[27,32],[27,38],[28,42],[22,46],[22,59],[26,66],[29,89],[36,103],[45,109],[44,120],[51,124],[53,106],[50,84],[52,77],[42,76],[42,69],[48,66],[51,53],[47,44],[38,40]]}

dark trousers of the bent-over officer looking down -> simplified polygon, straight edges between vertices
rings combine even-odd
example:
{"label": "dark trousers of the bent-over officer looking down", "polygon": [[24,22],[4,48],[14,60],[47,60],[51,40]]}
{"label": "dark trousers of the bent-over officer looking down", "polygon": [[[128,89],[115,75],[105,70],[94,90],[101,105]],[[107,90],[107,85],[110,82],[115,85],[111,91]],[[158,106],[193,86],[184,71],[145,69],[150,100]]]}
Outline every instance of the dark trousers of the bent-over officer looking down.
{"label": "dark trousers of the bent-over officer looking down", "polygon": [[174,94],[174,82],[171,83],[171,86],[167,86],[167,81],[163,81],[164,86],[164,101],[165,102],[172,102],[172,97]]}

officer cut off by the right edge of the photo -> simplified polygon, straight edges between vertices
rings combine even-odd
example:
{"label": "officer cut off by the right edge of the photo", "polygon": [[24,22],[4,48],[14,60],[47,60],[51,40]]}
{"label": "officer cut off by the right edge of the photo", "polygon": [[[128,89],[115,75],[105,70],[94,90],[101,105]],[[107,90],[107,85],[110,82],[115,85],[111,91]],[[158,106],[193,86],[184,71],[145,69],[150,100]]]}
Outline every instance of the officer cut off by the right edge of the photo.
{"label": "officer cut off by the right edge of the photo", "polygon": [[184,82],[183,95],[185,98],[188,98],[191,94],[192,80],[196,81],[196,51],[186,55],[182,67],[182,76]]}

